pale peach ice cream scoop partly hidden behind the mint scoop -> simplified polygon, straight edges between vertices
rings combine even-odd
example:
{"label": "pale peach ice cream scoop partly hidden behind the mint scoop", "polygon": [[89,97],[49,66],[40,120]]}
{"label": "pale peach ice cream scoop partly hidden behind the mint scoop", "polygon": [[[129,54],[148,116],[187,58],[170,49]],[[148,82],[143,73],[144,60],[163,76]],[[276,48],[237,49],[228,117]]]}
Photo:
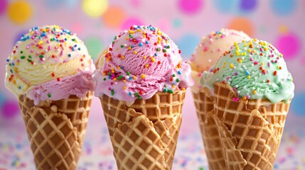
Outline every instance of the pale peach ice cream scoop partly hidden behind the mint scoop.
{"label": "pale peach ice cream scoop partly hidden behind the mint scoop", "polygon": [[200,40],[189,61],[195,81],[195,85],[191,88],[193,92],[198,93],[201,89],[199,80],[203,71],[213,67],[220,55],[223,55],[223,52],[234,42],[242,42],[242,40],[250,40],[250,37],[242,31],[225,28],[213,31]]}

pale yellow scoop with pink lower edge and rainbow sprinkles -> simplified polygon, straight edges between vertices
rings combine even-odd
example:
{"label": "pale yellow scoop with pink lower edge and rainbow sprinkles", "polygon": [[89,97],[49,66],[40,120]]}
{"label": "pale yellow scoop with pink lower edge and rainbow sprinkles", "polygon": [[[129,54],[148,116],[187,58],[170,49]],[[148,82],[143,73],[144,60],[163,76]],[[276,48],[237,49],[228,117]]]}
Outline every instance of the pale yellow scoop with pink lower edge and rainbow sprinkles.
{"label": "pale yellow scoop with pink lower edge and rainbow sprinkles", "polygon": [[6,64],[6,87],[35,104],[95,89],[95,70],[84,42],[60,26],[34,27],[16,43]]}

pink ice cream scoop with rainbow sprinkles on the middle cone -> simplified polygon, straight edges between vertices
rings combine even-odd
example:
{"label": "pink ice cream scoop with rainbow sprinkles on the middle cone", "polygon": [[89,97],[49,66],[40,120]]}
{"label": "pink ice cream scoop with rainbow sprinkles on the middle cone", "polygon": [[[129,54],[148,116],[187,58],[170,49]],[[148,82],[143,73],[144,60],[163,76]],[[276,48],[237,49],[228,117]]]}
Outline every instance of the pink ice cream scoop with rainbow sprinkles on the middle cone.
{"label": "pink ice cream scoop with rainbow sprinkles on the middle cone", "polygon": [[109,45],[97,65],[95,96],[133,103],[158,91],[173,93],[193,85],[191,67],[177,45],[152,26],[132,26]]}

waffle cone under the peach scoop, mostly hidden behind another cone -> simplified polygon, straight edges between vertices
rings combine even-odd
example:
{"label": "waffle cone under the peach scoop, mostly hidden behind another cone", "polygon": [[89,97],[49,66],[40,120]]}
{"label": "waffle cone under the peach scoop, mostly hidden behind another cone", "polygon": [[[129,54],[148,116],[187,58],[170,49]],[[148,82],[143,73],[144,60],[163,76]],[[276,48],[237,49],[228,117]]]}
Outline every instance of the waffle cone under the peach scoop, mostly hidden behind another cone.
{"label": "waffle cone under the peach scoop, mostly hidden behind another cone", "polygon": [[193,99],[209,169],[225,169],[223,147],[218,135],[218,126],[213,118],[215,115],[214,98],[210,94],[210,90],[203,87],[198,93],[193,92]]}

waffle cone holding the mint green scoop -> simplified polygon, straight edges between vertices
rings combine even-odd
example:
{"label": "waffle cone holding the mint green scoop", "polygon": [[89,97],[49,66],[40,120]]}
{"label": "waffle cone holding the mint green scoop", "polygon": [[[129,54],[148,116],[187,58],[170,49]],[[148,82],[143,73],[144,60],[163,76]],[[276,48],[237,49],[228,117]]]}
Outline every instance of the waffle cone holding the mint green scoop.
{"label": "waffle cone holding the mint green scoop", "polygon": [[235,92],[221,83],[215,83],[214,97],[226,169],[273,169],[290,101],[233,101]]}

